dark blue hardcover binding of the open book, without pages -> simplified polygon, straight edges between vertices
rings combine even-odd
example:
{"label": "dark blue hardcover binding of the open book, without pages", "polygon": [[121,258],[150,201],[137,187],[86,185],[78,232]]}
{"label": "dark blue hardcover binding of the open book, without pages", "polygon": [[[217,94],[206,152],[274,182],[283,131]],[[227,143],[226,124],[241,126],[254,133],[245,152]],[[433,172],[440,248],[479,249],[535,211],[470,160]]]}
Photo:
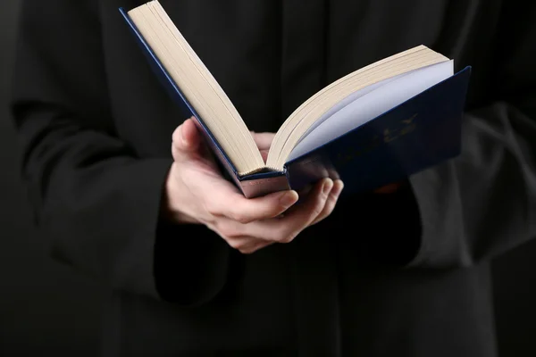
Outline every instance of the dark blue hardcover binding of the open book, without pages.
{"label": "dark blue hardcover binding of the open book, without pages", "polygon": [[351,195],[398,182],[460,154],[470,66],[366,124],[287,162],[281,172],[240,176],[129,14],[123,8],[120,12],[163,87],[187,115],[196,119],[222,167],[247,197],[289,188],[300,190],[326,177],[342,179],[344,195]]}

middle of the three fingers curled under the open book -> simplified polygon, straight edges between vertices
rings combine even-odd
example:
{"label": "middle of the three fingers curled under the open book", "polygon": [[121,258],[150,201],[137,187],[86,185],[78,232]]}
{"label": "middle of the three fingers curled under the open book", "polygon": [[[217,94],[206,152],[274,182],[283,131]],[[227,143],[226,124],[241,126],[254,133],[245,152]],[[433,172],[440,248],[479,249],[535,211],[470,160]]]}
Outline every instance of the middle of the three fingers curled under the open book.
{"label": "middle of the three fingers curled under the open book", "polygon": [[323,211],[333,187],[331,179],[322,179],[303,203],[294,206],[282,218],[255,221],[242,226],[243,234],[279,243],[291,242]]}

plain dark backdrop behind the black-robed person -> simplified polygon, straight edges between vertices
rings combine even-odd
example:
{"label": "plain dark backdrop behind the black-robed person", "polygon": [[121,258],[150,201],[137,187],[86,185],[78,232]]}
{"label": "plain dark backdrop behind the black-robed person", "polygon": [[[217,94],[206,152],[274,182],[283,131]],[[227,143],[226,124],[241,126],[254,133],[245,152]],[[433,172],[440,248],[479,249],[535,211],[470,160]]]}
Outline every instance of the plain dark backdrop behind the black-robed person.
{"label": "plain dark backdrop behind the black-robed person", "polygon": [[[51,261],[31,229],[6,107],[20,1],[0,2],[0,356],[96,356],[107,290]],[[535,259],[533,242],[494,262],[501,357],[536,356]]]}

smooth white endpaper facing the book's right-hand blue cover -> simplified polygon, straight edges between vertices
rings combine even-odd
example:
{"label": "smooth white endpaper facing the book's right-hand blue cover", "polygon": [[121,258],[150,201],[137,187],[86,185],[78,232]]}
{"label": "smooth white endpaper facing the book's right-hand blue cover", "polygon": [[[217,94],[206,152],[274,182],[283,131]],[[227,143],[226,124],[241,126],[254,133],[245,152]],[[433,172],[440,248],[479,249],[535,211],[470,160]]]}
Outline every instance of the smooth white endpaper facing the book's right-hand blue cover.
{"label": "smooth white endpaper facing the book's right-hand blue cover", "polygon": [[372,91],[323,120],[294,147],[287,161],[307,154],[318,146],[373,120],[398,104],[434,86],[454,73],[454,61],[440,62],[411,71]]}

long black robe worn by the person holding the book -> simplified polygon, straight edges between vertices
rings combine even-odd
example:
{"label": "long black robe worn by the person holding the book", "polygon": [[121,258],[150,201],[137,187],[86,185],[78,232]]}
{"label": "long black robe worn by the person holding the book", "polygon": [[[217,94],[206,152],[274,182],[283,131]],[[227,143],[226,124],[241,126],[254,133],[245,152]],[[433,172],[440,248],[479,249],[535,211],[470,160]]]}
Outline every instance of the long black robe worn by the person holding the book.
{"label": "long black robe worn by the person holding the book", "polygon": [[186,118],[118,12],[142,3],[25,1],[14,75],[50,252],[113,287],[103,355],[496,355],[490,259],[536,236],[534,2],[162,0],[255,131],[411,46],[473,66],[456,160],[251,255],[160,214]]}

